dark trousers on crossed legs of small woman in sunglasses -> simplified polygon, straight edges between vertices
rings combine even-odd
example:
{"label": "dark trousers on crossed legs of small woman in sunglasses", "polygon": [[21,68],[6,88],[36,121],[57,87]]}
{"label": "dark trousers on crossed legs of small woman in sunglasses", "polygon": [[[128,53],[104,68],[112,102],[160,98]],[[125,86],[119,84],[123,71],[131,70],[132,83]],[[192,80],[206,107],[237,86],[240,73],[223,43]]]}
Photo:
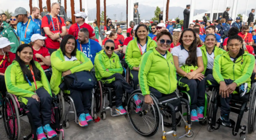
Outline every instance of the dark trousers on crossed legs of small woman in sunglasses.
{"label": "dark trousers on crossed legs of small woman in sunglasses", "polygon": [[131,94],[134,89],[125,81],[121,74],[115,73],[108,78],[102,78],[102,83],[108,87],[114,87],[116,93],[116,107],[122,106],[123,89]]}

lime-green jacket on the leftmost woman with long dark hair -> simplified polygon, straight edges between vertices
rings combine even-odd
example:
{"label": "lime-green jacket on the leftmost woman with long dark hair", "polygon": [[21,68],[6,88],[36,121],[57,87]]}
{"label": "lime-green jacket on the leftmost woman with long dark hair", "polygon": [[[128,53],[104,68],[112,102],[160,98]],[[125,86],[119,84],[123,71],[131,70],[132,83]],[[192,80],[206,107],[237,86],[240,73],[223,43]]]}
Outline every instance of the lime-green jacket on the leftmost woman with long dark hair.
{"label": "lime-green jacket on the leftmost woman with long dark hair", "polygon": [[[52,96],[52,91],[43,68],[36,61],[35,66],[41,72],[41,81],[36,81],[37,88],[39,89],[41,87],[44,87],[44,89]],[[32,95],[36,94],[34,92],[35,83],[34,81],[30,82],[33,88],[29,86],[28,81],[24,79],[23,72],[20,69],[20,64],[17,61],[14,60],[12,64],[7,67],[5,72],[6,89],[10,94],[16,95],[18,101],[25,104],[28,103],[28,100],[26,100],[26,98],[24,97],[32,97]]]}

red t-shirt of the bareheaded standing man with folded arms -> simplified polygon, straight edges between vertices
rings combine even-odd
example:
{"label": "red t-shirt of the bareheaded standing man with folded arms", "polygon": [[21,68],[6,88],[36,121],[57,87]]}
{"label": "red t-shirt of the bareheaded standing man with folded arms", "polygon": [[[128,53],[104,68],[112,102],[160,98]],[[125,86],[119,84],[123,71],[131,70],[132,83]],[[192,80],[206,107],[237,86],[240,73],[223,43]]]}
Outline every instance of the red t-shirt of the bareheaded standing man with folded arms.
{"label": "red t-shirt of the bareheaded standing man with folded arms", "polygon": [[[47,16],[44,16],[42,18],[42,24],[41,24],[41,28],[44,28],[44,27],[49,27],[50,31],[53,33],[53,34],[61,34],[62,31],[61,31],[61,27],[65,27],[65,21],[62,17],[61,18],[61,22],[58,21],[57,23],[57,20],[58,18],[52,18],[52,21],[53,21],[53,24],[54,24],[54,27],[55,27],[55,31],[53,30],[53,27],[52,27],[52,21],[50,22],[50,24],[48,24],[48,18]],[[59,25],[59,26],[58,26]],[[45,36],[47,37],[47,39],[45,40],[45,46],[47,48],[50,48],[50,49],[59,49],[60,48],[60,43],[57,41],[57,40],[52,40],[50,37],[47,36],[47,34],[45,34]]]}

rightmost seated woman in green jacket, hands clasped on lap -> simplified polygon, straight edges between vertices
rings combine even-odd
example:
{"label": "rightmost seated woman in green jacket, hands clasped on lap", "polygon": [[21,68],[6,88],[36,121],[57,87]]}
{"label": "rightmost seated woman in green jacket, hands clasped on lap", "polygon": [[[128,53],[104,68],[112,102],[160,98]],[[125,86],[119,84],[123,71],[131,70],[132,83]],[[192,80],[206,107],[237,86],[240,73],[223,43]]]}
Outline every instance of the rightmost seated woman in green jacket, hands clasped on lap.
{"label": "rightmost seated woman in green jacket, hands clasped on lap", "polygon": [[243,98],[244,94],[250,92],[255,58],[244,51],[243,39],[237,34],[228,38],[227,49],[228,52],[215,57],[213,74],[206,79],[210,86],[219,87],[222,125],[231,126],[229,103],[232,94],[239,94]]}

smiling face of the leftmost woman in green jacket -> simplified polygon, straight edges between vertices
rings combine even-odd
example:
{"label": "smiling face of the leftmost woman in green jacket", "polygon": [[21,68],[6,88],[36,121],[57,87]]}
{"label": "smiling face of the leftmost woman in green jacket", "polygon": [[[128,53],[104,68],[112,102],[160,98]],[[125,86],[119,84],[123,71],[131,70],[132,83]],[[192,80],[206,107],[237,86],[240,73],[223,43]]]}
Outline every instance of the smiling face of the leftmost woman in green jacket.
{"label": "smiling face of the leftmost woman in green jacket", "polygon": [[33,51],[30,47],[25,47],[22,51],[18,51],[17,54],[25,65],[29,65],[30,61],[33,59]]}

